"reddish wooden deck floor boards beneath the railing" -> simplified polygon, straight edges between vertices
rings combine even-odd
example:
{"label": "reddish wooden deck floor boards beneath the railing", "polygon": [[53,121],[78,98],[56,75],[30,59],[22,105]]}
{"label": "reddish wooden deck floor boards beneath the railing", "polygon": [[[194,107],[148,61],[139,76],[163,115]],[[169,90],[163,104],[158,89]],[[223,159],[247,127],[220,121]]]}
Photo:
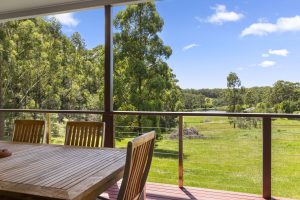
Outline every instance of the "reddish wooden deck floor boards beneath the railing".
{"label": "reddish wooden deck floor boards beneath the railing", "polygon": [[[116,199],[120,183],[110,188],[103,197]],[[246,194],[239,192],[228,192],[221,190],[202,189],[194,187],[179,188],[176,185],[167,185],[160,183],[147,183],[147,200],[264,200],[261,196],[255,194]],[[288,200],[284,198],[274,198],[273,200]]]}

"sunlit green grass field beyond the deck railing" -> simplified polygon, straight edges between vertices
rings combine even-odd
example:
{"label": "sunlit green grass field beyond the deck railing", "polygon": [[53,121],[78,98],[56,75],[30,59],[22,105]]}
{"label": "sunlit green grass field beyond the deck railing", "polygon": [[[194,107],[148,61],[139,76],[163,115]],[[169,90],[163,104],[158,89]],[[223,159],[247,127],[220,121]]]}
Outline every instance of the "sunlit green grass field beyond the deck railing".
{"label": "sunlit green grass field beyond the deck railing", "polygon": [[[204,139],[184,139],[184,185],[261,194],[262,129],[234,129],[225,117],[185,117]],[[131,138],[117,141],[126,147]],[[52,138],[63,143],[63,137]],[[177,184],[178,141],[156,143],[148,181]],[[272,123],[272,192],[300,199],[300,121]]]}

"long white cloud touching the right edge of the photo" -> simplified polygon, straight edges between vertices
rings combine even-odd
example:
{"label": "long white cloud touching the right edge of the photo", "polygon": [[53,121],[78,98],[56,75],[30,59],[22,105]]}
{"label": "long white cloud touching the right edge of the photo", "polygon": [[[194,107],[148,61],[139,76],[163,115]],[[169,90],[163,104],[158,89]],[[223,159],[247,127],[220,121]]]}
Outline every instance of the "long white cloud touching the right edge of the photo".
{"label": "long white cloud touching the right edge of the photo", "polygon": [[300,16],[295,17],[281,17],[277,19],[275,24],[266,23],[266,22],[259,22],[250,25],[249,27],[245,28],[241,36],[247,35],[258,35],[258,36],[265,36],[270,33],[275,32],[289,32],[289,31],[300,31]]}

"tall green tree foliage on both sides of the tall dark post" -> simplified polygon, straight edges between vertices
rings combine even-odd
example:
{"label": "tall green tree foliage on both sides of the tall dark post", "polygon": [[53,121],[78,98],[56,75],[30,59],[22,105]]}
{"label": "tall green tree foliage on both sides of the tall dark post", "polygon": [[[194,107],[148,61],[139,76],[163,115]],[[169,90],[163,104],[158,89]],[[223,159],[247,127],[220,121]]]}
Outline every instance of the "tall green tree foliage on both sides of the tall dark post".
{"label": "tall green tree foliage on both sides of the tall dark post", "polygon": [[[181,89],[166,63],[172,50],[158,36],[164,23],[155,4],[128,6],[113,23],[114,109],[180,110]],[[87,49],[78,32],[66,37],[55,19],[0,24],[0,109],[103,110],[103,64],[103,46]],[[60,114],[59,122],[64,117],[70,115]],[[170,125],[174,119],[127,117],[119,122],[141,127]],[[1,133],[3,123],[0,114]]]}

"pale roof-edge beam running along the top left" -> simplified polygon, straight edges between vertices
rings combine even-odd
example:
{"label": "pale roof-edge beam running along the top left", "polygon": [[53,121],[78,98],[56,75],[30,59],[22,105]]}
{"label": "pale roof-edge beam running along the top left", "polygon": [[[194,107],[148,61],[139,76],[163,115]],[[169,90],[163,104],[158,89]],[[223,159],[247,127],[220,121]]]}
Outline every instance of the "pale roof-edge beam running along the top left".
{"label": "pale roof-edge beam running along the top left", "polygon": [[[150,0],[74,0],[68,3],[59,3],[47,5],[44,7],[32,7],[30,9],[10,10],[0,12],[0,22],[5,22],[14,19],[33,18],[37,16],[45,16],[50,14],[74,12],[79,10],[87,10],[105,5],[126,5],[134,3],[142,3]],[[20,1],[22,3],[22,1]]]}

